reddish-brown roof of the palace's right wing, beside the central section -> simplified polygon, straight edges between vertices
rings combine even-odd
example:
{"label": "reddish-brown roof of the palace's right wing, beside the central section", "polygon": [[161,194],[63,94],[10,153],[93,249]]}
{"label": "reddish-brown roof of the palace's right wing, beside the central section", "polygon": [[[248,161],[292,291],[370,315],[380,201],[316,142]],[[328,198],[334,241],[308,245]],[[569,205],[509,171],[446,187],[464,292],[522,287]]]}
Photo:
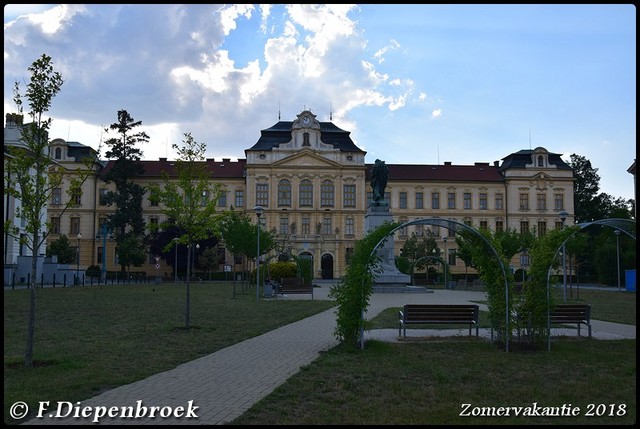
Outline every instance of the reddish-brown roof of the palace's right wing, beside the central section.
{"label": "reddish-brown roof of the palace's right wing, beside the central section", "polygon": [[[371,169],[367,167],[366,180],[371,180]],[[446,182],[502,182],[504,178],[497,166],[477,162],[474,165],[428,165],[428,164],[387,164],[389,181],[395,180],[428,180]]]}

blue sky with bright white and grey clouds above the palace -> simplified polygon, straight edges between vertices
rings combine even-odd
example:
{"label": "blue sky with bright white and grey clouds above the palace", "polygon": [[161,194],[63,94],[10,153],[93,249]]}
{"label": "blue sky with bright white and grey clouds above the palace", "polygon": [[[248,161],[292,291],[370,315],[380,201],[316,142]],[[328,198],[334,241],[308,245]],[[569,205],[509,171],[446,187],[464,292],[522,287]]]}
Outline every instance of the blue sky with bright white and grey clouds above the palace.
{"label": "blue sky with bright white and grey clouds above the palace", "polygon": [[633,4],[9,4],[5,116],[42,54],[64,79],[50,137],[101,154],[120,110],[150,136],[145,160],[175,159],[185,133],[236,160],[309,109],[367,163],[472,165],[544,147],[591,161],[600,192],[634,198]]}

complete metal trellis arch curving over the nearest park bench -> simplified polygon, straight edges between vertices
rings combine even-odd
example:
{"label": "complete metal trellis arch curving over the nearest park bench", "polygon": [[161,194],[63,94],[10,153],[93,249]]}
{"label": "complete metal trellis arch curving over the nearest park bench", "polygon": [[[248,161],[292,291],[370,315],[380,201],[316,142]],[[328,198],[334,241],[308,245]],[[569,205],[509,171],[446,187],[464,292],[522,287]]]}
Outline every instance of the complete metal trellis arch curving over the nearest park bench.
{"label": "complete metal trellis arch curving over the nearest park bench", "polygon": [[[387,237],[394,234],[399,229],[406,228],[408,226],[413,226],[413,225],[434,225],[434,226],[438,226],[438,227],[442,227],[442,228],[446,228],[448,230],[454,231],[455,233],[460,231],[467,231],[479,237],[480,239],[482,239],[482,241],[491,249],[496,259],[498,260],[498,263],[500,264],[500,269],[502,270],[502,276],[504,277],[504,291],[505,291],[505,300],[506,300],[505,350],[508,352],[509,351],[509,281],[507,278],[507,272],[504,268],[504,264],[502,263],[502,259],[500,258],[500,255],[498,255],[498,252],[496,251],[496,249],[476,229],[468,225],[465,225],[464,223],[460,223],[451,219],[442,219],[442,218],[416,219],[416,220],[403,223],[402,225],[397,226],[396,228],[389,231],[389,233],[385,237],[383,237],[380,241],[378,241],[378,243],[375,245],[375,247],[369,254],[369,257],[367,259],[367,264],[365,265],[365,270],[369,265],[369,262],[372,260],[373,255],[375,255],[378,248],[386,241]],[[363,276],[362,282],[364,283],[364,276]],[[362,290],[364,293],[364,287],[362,287]],[[361,314],[361,317],[362,317],[362,323],[360,328],[360,348],[361,349],[364,349],[364,312],[365,312],[365,308],[362,309],[362,314]]]}

